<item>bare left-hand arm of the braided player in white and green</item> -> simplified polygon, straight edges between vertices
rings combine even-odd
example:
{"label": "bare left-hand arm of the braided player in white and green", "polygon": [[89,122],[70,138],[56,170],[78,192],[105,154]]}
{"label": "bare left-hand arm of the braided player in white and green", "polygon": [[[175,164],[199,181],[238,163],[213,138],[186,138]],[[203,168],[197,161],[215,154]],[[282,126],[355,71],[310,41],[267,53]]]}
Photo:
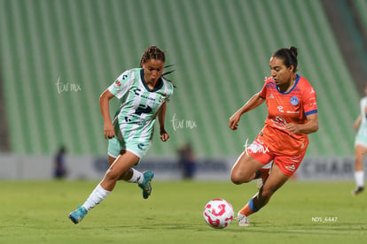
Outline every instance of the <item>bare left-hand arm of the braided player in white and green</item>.
{"label": "bare left-hand arm of the braided player in white and green", "polygon": [[104,121],[104,133],[105,139],[114,137],[114,128],[113,123],[110,117],[110,104],[109,101],[113,98],[113,94],[107,89],[99,96],[99,108],[102,113],[103,121]]}

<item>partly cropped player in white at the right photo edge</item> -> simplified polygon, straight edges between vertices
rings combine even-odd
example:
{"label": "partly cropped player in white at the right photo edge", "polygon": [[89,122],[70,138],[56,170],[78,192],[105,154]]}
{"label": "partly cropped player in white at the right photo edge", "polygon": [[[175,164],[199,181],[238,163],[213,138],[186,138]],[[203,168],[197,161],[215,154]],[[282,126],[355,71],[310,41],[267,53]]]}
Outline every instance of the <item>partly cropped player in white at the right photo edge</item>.
{"label": "partly cropped player in white at the right photo edge", "polygon": [[364,87],[364,97],[361,100],[361,113],[355,120],[355,190],[353,194],[360,194],[364,190],[363,157],[367,153],[367,85]]}

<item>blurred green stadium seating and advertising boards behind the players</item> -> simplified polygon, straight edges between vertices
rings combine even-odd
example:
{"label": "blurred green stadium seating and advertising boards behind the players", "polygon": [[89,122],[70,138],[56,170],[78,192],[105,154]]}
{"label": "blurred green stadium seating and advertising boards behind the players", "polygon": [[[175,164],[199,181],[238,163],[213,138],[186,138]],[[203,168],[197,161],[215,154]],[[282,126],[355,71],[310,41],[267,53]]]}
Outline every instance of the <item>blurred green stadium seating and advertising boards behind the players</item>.
{"label": "blurred green stadium seating and advertising boards behind the players", "polygon": [[179,178],[176,149],[190,142],[197,179],[229,179],[266,106],[236,132],[228,119],[262,88],[270,55],[296,46],[320,119],[297,177],[353,179],[366,12],[366,0],[0,0],[0,179],[51,179],[60,145],[68,179],[100,179],[107,141],[98,96],[150,45],[167,50],[177,88],[170,139],[155,136],[142,169]]}

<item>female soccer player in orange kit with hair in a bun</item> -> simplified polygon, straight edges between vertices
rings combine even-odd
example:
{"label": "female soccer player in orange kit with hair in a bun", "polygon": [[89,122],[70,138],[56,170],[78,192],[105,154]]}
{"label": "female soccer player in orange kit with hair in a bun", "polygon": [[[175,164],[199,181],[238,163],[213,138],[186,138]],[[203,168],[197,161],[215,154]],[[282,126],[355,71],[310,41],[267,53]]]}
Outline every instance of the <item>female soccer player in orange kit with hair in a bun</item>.
{"label": "female soccer player in orange kit with hair in a bun", "polygon": [[[262,179],[259,192],[238,211],[238,225],[249,225],[248,216],[265,206],[278,188],[300,166],[308,147],[308,133],[318,130],[316,92],[308,80],[298,75],[297,48],[277,50],[269,61],[271,76],[230,117],[236,130],[241,115],[266,101],[268,118],[254,142],[238,157],[230,172],[235,184]],[[271,168],[263,168],[273,161]]]}

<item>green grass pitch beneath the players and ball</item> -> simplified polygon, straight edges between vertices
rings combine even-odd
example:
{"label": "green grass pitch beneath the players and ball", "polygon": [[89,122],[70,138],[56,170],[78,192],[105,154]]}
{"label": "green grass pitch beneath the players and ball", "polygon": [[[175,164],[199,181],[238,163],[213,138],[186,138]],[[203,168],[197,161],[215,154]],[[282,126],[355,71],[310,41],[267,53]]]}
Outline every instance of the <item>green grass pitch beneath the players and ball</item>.
{"label": "green grass pitch beneath the players and ball", "polygon": [[367,192],[353,182],[289,181],[250,217],[216,230],[202,217],[214,198],[235,213],[256,193],[251,182],[153,181],[144,200],[134,184],[113,193],[74,225],[67,214],[98,181],[0,181],[0,243],[366,243]]}

